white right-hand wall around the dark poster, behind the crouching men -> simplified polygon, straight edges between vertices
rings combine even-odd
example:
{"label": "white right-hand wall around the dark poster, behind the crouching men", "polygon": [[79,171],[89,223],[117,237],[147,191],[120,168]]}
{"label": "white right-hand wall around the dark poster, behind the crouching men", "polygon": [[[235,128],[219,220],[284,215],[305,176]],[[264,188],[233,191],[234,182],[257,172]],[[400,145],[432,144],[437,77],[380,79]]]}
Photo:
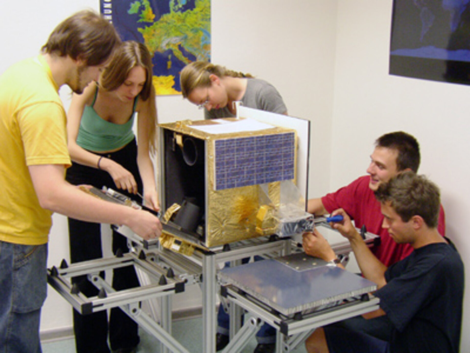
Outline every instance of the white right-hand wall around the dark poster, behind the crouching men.
{"label": "white right-hand wall around the dark poster, behind the crouching men", "polygon": [[[470,282],[470,87],[388,75],[392,0],[339,0],[331,135],[331,190],[365,174],[374,140],[404,130],[419,141],[420,172],[440,186],[446,234]],[[470,347],[466,292],[462,352]]]}

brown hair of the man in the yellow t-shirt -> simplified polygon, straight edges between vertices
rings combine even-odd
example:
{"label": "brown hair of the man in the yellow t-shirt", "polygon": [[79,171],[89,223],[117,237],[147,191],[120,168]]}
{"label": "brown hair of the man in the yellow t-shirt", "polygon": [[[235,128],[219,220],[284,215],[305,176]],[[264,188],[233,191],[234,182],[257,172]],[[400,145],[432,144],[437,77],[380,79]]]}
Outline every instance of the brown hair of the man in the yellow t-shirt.
{"label": "brown hair of the man in the yellow t-shirt", "polygon": [[106,62],[120,42],[109,21],[94,11],[84,10],[58,24],[41,51],[96,66]]}

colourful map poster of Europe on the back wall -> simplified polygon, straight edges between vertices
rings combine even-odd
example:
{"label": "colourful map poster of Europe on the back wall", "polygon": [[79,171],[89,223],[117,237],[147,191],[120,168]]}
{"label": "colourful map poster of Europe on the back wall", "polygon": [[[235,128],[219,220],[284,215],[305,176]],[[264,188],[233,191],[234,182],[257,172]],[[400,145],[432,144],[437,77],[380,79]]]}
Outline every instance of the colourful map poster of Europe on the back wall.
{"label": "colourful map poster of Europe on the back wall", "polygon": [[157,95],[181,94],[183,67],[211,59],[211,0],[100,0],[100,11],[122,40],[149,49]]}

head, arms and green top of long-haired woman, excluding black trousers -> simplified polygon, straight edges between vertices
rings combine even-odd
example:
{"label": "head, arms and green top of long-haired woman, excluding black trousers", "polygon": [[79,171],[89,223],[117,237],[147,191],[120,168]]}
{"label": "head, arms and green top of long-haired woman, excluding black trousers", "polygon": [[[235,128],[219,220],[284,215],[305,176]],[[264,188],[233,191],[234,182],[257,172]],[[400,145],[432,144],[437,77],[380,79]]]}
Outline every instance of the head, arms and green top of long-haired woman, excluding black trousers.
{"label": "head, arms and green top of long-haired woman, excluding black trousers", "polygon": [[[158,209],[155,173],[150,158],[155,152],[157,124],[151,70],[148,49],[141,43],[124,42],[102,73],[99,83],[90,84],[82,95],[72,96],[67,130],[72,161],[108,172],[115,183],[108,185],[109,187],[114,186],[136,194],[134,176],[103,154],[115,152],[129,142],[128,139],[123,140],[122,145],[119,145],[120,139],[129,134],[126,125],[131,125],[132,128],[129,122],[133,122],[134,112],[137,112],[137,160],[143,181],[143,194],[146,206]],[[86,120],[86,124],[82,119]],[[119,133],[123,136],[119,136]],[[81,135],[85,136],[82,139],[83,147],[77,144],[77,138]],[[133,136],[132,130],[131,135]]]}

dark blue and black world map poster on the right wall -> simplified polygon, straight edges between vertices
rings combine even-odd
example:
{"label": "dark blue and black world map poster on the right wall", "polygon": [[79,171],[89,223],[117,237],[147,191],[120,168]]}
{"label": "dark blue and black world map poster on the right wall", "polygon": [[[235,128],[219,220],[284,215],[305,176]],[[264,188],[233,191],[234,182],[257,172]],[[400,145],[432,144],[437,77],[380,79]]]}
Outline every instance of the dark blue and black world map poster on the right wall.
{"label": "dark blue and black world map poster on the right wall", "polygon": [[470,85],[470,0],[394,0],[389,72]]}

